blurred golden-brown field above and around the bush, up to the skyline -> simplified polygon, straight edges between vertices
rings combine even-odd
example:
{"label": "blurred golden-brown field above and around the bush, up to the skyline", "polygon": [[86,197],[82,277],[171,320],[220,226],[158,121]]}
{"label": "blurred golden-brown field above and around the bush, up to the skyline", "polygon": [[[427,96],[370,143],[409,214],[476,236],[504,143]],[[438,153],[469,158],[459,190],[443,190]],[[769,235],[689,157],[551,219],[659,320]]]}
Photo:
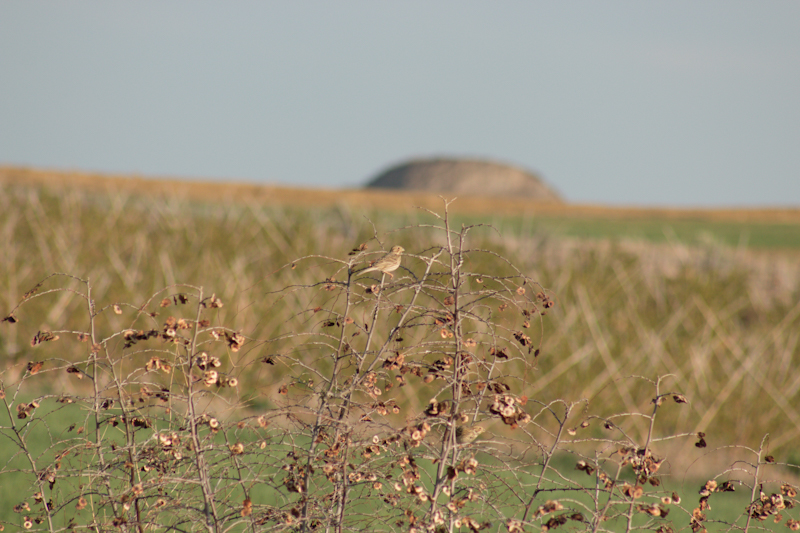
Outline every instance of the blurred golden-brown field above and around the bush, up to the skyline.
{"label": "blurred golden-brown field above and around the bush, up to the skyline", "polygon": [[[217,320],[255,339],[236,367],[245,391],[241,405],[250,410],[274,406],[281,384],[304,379],[293,368],[255,365],[295,346],[259,339],[314,327],[308,310],[327,305],[321,289],[275,291],[341,279],[341,265],[331,258],[345,260],[368,241],[374,252],[380,247],[374,237],[384,248],[406,248],[408,270],[401,276],[418,274],[422,259],[441,243],[427,227],[437,221],[425,209],[441,212],[442,202],[424,195],[24,169],[0,170],[0,183],[6,243],[0,307],[13,309],[39,281],[61,272],[91,279],[99,306],[133,304],[107,317],[103,327],[142,328],[148,320],[135,311],[157,311],[164,287],[203,287],[225,302]],[[648,428],[638,415],[650,409],[653,380],[670,375],[664,387],[689,403],[663,410],[657,434],[664,440],[656,446],[671,457],[664,471],[676,487],[687,487],[686,501],[696,501],[697,483],[706,477],[723,473],[720,480],[747,481],[751,469],[735,461],[752,463],[767,434],[768,453],[775,457],[770,478],[797,477],[800,210],[614,209],[467,198],[452,204],[452,211],[456,226],[491,224],[475,228],[469,246],[509,257],[556,303],[530,328],[537,342],[541,338],[541,354],[532,371],[520,368],[515,376],[520,393],[545,405],[560,400],[579,406],[569,425],[593,420],[585,431],[594,438],[608,434],[599,420],[619,416],[619,425],[641,439]],[[474,257],[470,268],[494,268],[489,253]],[[306,259],[291,268],[298,258]],[[63,286],[80,289],[56,277],[40,292]],[[66,339],[31,347],[29,332],[84,331],[81,306],[70,292],[53,293],[29,302],[17,316],[19,324],[0,326],[4,387],[30,361],[76,357],[65,350],[72,346]],[[63,372],[36,383],[41,394],[75,387]],[[419,412],[429,395],[409,389],[395,389],[394,398],[404,411]],[[537,424],[551,433],[553,421],[546,413],[539,416]],[[394,423],[404,422],[398,417]],[[502,427],[491,431],[498,438],[511,436]],[[705,449],[694,445],[700,431]],[[48,434],[63,432],[59,426]],[[569,437],[576,448],[580,436]],[[13,448],[6,444],[2,451],[5,459]],[[731,470],[734,464],[739,466]],[[745,492],[736,493],[725,520],[742,512],[749,500],[742,499]]]}

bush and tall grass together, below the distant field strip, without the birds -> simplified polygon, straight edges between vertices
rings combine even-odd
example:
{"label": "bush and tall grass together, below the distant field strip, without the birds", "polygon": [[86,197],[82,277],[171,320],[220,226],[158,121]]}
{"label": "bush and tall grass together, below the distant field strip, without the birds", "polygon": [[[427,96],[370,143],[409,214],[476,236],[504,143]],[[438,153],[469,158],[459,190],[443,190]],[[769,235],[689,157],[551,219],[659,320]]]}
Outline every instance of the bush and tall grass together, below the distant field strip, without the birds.
{"label": "bush and tall grass together, below the distant field strip, without the birds", "polygon": [[800,527],[794,252],[450,207],[5,187],[0,520]]}

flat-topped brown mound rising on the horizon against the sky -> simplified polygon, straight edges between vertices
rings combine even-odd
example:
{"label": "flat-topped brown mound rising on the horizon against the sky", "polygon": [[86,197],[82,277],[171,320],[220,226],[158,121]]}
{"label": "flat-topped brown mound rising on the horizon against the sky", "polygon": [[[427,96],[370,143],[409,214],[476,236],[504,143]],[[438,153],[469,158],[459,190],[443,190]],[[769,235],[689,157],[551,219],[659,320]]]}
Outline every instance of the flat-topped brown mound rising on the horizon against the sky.
{"label": "flat-topped brown mound rising on the horizon against the sky", "polygon": [[563,203],[558,193],[533,172],[478,159],[411,160],[381,173],[367,187]]}

